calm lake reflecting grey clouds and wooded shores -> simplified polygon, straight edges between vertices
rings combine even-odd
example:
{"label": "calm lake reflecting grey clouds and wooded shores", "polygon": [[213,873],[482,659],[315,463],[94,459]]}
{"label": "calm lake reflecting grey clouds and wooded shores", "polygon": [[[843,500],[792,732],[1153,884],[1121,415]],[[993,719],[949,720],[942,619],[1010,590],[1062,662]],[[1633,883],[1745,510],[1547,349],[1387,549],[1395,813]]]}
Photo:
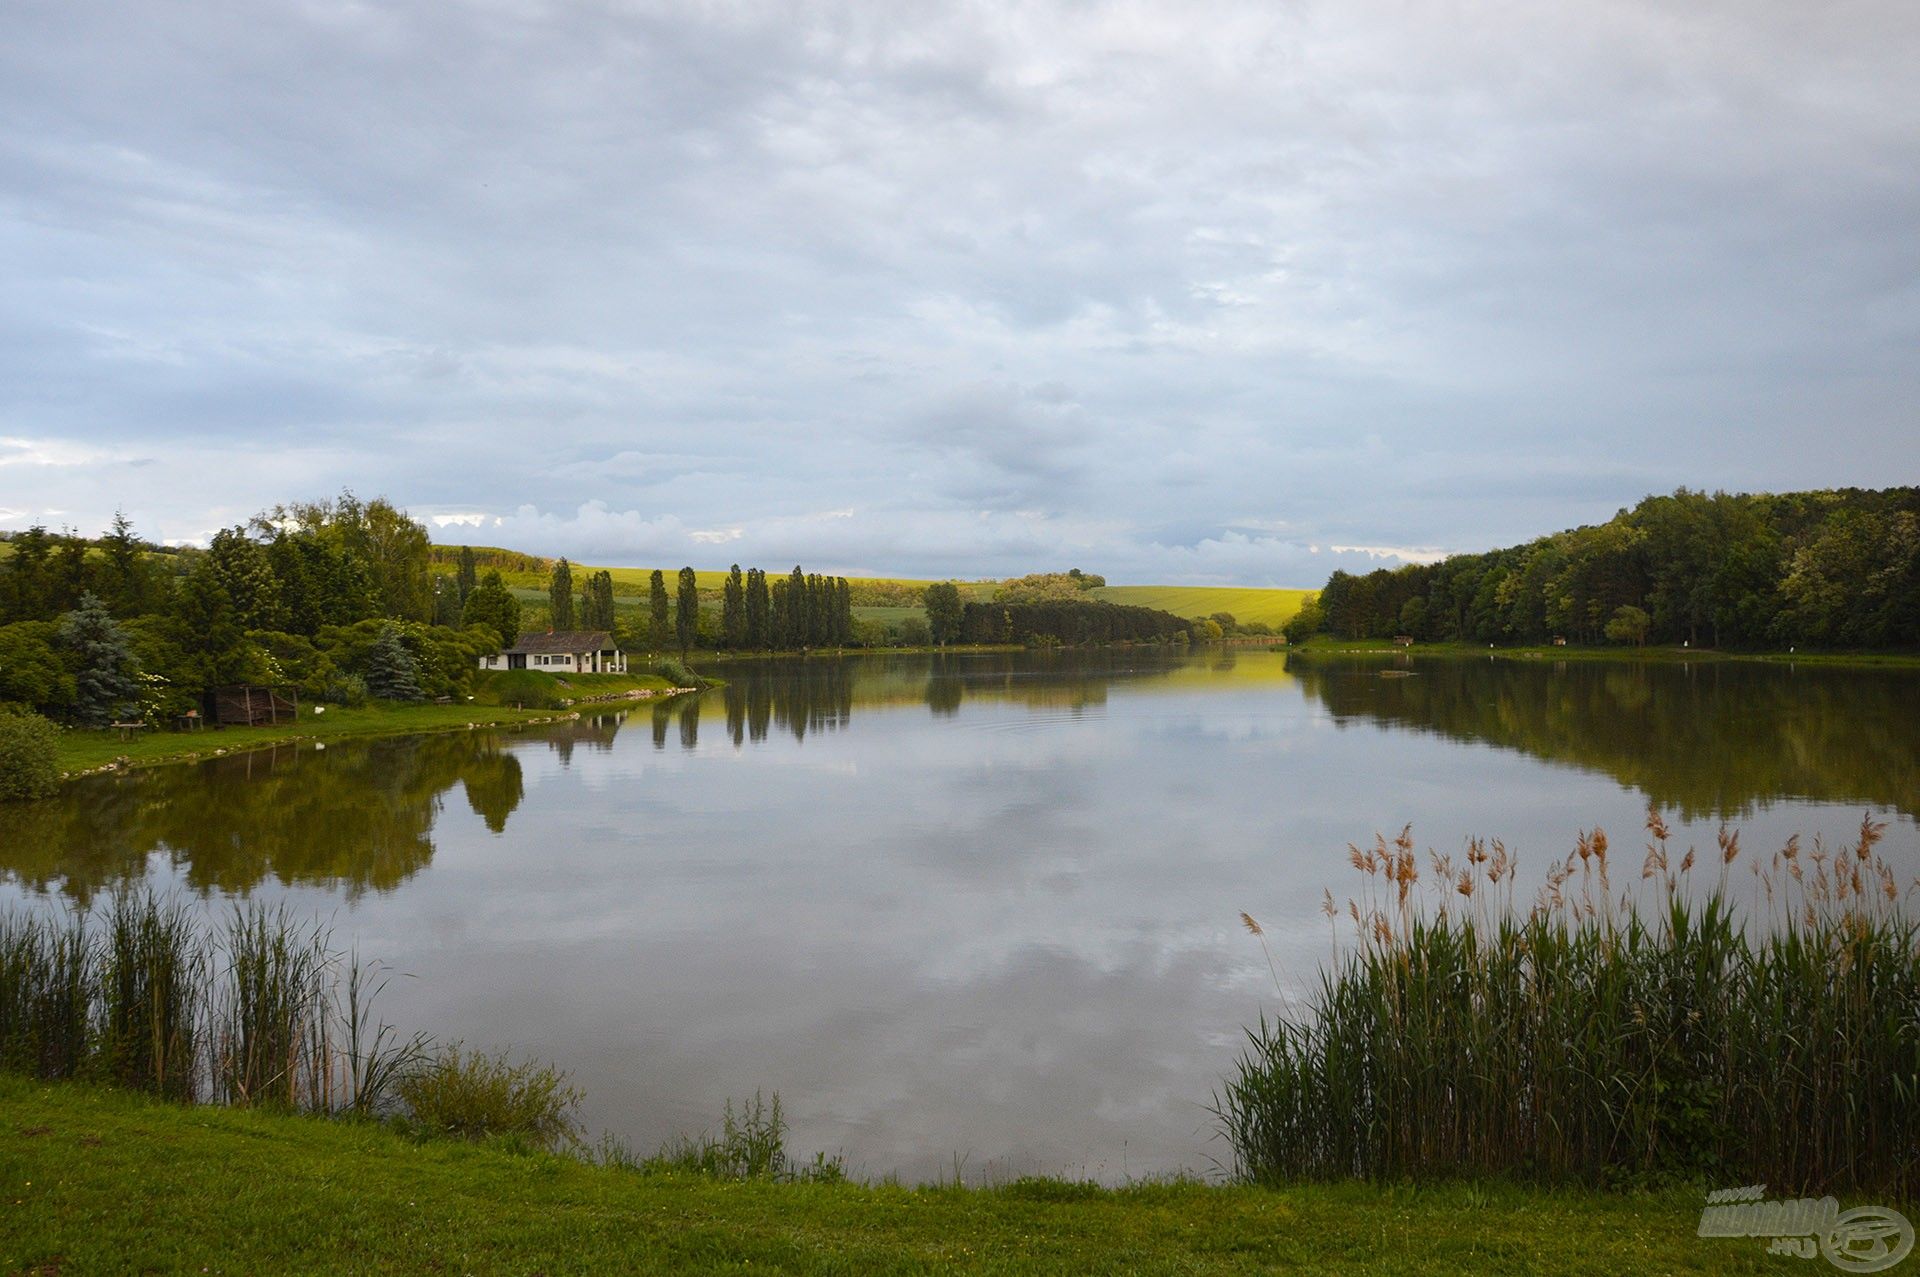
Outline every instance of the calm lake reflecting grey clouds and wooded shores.
{"label": "calm lake reflecting grey clouds and wooded shores", "polygon": [[[572,1070],[649,1150],[780,1091],[860,1175],[1227,1158],[1242,1025],[1331,952],[1350,841],[1887,822],[1920,874],[1920,674],[1225,649],[726,664],[561,728],[311,743],[0,807],[0,901],[129,881],[330,920],[388,1020]],[[1738,868],[1738,866],[1736,866]],[[1238,922],[1267,929],[1267,954]]]}

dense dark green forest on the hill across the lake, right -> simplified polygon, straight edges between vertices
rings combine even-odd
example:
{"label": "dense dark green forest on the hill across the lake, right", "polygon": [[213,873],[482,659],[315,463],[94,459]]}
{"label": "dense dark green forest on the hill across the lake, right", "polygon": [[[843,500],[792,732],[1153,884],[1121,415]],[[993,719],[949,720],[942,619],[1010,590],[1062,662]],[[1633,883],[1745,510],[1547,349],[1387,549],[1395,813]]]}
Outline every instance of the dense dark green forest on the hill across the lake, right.
{"label": "dense dark green forest on the hill across the lake, right", "polygon": [[1475,643],[1914,647],[1920,488],[1682,488],[1526,545],[1334,572],[1288,638],[1317,630]]}

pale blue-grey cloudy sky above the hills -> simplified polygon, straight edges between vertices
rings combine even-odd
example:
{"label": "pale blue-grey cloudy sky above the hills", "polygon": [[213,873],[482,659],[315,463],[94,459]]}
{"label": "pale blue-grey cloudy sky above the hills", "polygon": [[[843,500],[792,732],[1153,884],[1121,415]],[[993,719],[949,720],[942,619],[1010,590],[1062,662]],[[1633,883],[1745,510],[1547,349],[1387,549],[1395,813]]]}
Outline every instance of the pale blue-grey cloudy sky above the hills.
{"label": "pale blue-grey cloudy sky above the hills", "polygon": [[0,528],[1258,586],[1920,480],[1908,0],[0,15]]}

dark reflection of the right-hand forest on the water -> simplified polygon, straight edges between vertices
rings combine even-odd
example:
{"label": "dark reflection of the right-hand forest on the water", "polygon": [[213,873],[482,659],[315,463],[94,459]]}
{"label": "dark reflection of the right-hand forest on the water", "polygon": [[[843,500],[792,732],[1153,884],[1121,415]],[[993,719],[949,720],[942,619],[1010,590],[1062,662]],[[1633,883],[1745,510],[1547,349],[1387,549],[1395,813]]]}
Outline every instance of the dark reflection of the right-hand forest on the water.
{"label": "dark reflection of the right-hand forest on the water", "polygon": [[1686,818],[1776,799],[1916,812],[1920,678],[1751,663],[1294,659],[1340,724],[1484,741],[1603,772]]}

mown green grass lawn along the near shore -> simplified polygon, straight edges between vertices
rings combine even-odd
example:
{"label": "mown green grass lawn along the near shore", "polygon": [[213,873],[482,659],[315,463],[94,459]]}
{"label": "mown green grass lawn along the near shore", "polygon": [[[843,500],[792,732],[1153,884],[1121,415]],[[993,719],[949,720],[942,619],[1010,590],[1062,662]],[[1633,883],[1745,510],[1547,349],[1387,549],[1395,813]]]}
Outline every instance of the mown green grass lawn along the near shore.
{"label": "mown green grass lawn along the near shore", "polygon": [[1811,1271],[1697,1193],[716,1183],[19,1077],[0,1212],[15,1273]]}

